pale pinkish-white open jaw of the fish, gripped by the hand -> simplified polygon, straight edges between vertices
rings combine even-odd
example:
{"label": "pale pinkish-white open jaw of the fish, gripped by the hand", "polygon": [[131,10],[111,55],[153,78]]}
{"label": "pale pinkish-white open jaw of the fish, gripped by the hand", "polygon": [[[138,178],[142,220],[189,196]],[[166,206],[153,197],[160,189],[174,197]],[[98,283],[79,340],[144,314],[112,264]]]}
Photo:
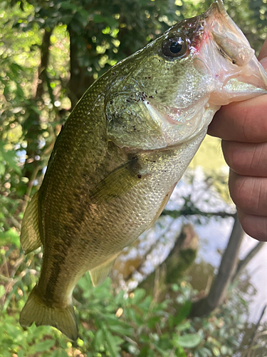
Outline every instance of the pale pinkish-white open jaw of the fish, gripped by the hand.
{"label": "pale pinkish-white open jaw of the fish, gripped by the hand", "polygon": [[203,15],[204,34],[194,59],[214,79],[209,104],[226,105],[267,94],[267,73],[222,1],[214,1]]}

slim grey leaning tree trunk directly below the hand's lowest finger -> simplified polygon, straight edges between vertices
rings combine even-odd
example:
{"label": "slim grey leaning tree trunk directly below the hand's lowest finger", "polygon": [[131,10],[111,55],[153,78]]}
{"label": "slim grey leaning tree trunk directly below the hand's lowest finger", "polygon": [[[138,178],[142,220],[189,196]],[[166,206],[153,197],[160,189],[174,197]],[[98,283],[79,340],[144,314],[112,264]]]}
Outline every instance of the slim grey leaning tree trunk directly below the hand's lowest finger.
{"label": "slim grey leaning tree trunk directly below the hand's lowest finger", "polygon": [[219,267],[218,274],[214,278],[208,296],[193,303],[190,317],[207,316],[224,301],[229,284],[231,283],[232,277],[236,272],[239,259],[239,249],[243,237],[244,231],[241,228],[239,218],[236,214],[228,245],[221,258],[221,265]]}

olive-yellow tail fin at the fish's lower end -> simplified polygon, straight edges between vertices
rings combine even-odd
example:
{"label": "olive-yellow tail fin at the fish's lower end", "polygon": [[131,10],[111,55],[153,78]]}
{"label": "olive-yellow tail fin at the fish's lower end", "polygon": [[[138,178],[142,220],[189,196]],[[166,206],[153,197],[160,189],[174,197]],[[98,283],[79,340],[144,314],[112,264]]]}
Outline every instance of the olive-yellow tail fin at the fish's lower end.
{"label": "olive-yellow tail fin at the fish's lower end", "polygon": [[70,340],[76,341],[78,338],[78,328],[75,322],[73,306],[67,308],[48,307],[36,294],[35,286],[31,291],[28,301],[21,311],[19,323],[21,326],[31,326],[33,322],[36,326],[48,325],[58,328]]}

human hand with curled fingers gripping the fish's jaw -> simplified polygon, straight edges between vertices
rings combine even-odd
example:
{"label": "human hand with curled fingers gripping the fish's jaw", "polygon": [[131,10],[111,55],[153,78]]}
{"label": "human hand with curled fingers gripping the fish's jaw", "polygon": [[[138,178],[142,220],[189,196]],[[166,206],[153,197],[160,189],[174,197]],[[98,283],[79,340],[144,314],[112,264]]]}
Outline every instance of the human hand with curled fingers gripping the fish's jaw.
{"label": "human hand with curled fingers gripping the fish's jaw", "polygon": [[[267,40],[258,56],[267,71]],[[267,241],[267,95],[222,106],[208,134],[223,139],[229,191],[244,231]]]}

